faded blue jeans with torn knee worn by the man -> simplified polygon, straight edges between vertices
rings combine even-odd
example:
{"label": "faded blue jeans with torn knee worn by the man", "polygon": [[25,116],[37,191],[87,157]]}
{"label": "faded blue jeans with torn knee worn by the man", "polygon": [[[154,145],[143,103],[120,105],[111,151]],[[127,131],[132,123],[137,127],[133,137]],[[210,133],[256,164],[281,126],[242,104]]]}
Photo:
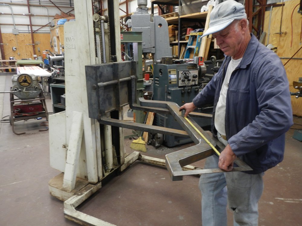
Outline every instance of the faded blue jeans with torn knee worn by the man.
{"label": "faded blue jeans with torn knee worn by the man", "polygon": [[[218,157],[206,159],[205,169],[218,168]],[[243,172],[202,174],[202,225],[226,226],[226,206],[233,211],[234,226],[258,225],[258,201],[263,191],[261,174]]]}

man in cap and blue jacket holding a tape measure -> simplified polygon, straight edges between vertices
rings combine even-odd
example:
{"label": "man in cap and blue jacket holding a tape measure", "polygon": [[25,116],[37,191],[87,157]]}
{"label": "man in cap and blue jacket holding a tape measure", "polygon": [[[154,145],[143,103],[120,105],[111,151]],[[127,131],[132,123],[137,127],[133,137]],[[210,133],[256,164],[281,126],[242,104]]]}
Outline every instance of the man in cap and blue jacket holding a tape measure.
{"label": "man in cap and blue jacket holding a tape measure", "polygon": [[[185,116],[213,103],[212,133],[226,147],[204,168],[233,169],[236,157],[253,170],[202,174],[202,225],[226,225],[226,205],[234,225],[258,225],[262,176],[283,160],[285,132],[293,124],[289,83],[279,57],[249,32],[244,6],[227,0],[214,7],[209,29],[226,55],[220,70],[193,99]],[[227,189],[226,189],[227,188]],[[227,192],[227,193],[226,193]]]}

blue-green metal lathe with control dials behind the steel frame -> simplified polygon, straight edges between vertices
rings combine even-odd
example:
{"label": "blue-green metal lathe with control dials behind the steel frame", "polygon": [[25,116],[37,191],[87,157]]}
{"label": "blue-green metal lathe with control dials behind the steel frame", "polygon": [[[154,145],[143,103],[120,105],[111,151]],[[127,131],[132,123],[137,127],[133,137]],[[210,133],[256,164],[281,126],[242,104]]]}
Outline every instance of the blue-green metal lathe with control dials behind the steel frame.
{"label": "blue-green metal lathe with control dials behind the steel frame", "polygon": [[[196,62],[172,64],[154,64],[153,100],[175,102],[179,106],[192,102],[194,97],[212,79],[213,74],[207,74],[204,63]],[[211,114],[213,106],[198,108],[194,112]],[[210,118],[196,118],[195,121],[205,130],[210,130]],[[157,113],[154,118],[156,126],[182,129],[171,115]],[[160,135],[162,136],[162,135]],[[159,137],[157,135],[156,137]],[[163,144],[168,147],[192,142],[188,137],[163,135]]]}

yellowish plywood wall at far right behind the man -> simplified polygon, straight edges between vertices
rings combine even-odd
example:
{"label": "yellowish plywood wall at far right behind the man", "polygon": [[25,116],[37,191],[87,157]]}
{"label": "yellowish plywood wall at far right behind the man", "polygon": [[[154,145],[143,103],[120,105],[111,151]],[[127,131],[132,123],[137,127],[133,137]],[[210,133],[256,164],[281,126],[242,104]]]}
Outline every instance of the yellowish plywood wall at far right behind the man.
{"label": "yellowish plywood wall at far right behind the man", "polygon": [[[281,58],[283,64],[285,64],[288,59],[282,58],[291,58],[294,53],[297,52],[302,46],[300,40],[302,15],[297,13],[299,7],[297,5],[299,3],[300,0],[290,0],[284,2],[281,24],[282,34],[278,34],[280,32],[282,6],[273,7],[271,13],[270,31],[268,31],[270,11],[265,12],[265,23],[263,30],[267,33],[267,35],[268,33],[270,33],[269,43],[277,47],[276,54]],[[268,7],[268,9],[270,9],[270,7]],[[293,32],[291,27],[293,28]],[[267,36],[265,37],[265,43],[266,45],[269,44],[267,43]],[[302,58],[302,49],[294,56],[294,58]],[[292,59],[284,66],[284,68],[286,70],[290,83],[290,91],[297,92],[298,90],[294,89],[293,87],[293,81],[298,81],[299,77],[302,77],[302,60]],[[302,97],[299,97],[297,99],[292,96],[291,104],[293,108],[293,114],[302,116]]]}

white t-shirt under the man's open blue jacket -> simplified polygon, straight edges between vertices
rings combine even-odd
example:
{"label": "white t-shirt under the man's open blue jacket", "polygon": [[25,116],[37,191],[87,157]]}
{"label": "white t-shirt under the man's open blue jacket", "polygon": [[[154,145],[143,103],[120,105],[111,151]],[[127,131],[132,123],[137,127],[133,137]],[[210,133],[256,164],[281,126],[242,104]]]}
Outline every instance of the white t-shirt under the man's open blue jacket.
{"label": "white t-shirt under the man's open blue jacket", "polygon": [[241,60],[242,58],[238,60],[234,60],[232,57],[229,66],[226,69],[226,76],[221,86],[220,96],[215,110],[215,121],[214,121],[215,128],[218,131],[218,133],[224,136],[226,136],[226,129],[225,129],[226,94],[229,88],[231,74],[235,70],[235,68],[239,65]]}

